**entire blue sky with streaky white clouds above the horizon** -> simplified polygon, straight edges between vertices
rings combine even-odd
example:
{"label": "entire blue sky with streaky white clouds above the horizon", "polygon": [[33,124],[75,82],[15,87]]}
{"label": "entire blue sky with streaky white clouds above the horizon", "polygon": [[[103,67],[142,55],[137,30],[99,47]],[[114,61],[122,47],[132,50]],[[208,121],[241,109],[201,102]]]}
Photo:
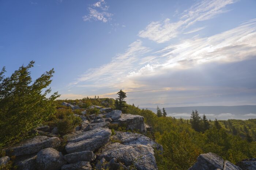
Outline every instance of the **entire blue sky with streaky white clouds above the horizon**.
{"label": "entire blue sky with streaky white clouds above the horizon", "polygon": [[0,0],[0,67],[54,68],[60,99],[256,104],[255,0]]}

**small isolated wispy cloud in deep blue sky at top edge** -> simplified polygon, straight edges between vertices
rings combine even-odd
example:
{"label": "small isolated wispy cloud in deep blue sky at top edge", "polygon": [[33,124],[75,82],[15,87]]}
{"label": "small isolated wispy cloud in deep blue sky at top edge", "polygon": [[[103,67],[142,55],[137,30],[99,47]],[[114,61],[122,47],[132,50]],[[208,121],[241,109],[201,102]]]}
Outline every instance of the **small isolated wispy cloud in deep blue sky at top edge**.
{"label": "small isolated wispy cloud in deep blue sky at top edge", "polygon": [[[110,12],[106,12],[109,9],[109,6],[106,5],[104,0],[99,0],[98,2],[90,5],[87,10],[89,14],[83,16],[84,21],[102,21],[103,23],[107,23],[108,21],[112,20],[113,14]],[[98,11],[98,9],[101,11]]]}

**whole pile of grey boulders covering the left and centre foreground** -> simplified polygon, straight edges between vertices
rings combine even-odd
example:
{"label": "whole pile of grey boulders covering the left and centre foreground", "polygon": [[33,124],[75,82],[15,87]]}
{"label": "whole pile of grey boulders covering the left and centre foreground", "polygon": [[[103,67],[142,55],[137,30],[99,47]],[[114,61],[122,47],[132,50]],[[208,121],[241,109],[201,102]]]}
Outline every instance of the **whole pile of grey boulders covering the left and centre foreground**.
{"label": "whole pile of grey boulders covering the left and centre foreground", "polygon": [[[39,126],[35,131],[41,135],[6,148],[8,156],[0,158],[0,165],[15,156],[18,170],[157,169],[154,149],[162,150],[162,146],[143,135],[143,116],[112,108],[90,108],[99,109],[101,114],[75,115],[83,121],[74,132],[63,136],[65,142],[57,137],[57,127]],[[114,131],[109,129],[112,125],[141,134]]]}

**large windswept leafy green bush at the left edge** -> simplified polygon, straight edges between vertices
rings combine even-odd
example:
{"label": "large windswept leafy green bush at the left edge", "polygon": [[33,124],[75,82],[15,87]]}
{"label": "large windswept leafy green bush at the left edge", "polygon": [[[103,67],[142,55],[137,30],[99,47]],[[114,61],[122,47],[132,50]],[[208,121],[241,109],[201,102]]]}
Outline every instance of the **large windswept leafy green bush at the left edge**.
{"label": "large windswept leafy green bush at the left edge", "polygon": [[56,111],[57,92],[49,98],[50,88],[42,92],[52,82],[54,71],[46,71],[32,83],[29,69],[33,64],[21,66],[6,78],[5,67],[0,72],[0,146],[22,139]]}

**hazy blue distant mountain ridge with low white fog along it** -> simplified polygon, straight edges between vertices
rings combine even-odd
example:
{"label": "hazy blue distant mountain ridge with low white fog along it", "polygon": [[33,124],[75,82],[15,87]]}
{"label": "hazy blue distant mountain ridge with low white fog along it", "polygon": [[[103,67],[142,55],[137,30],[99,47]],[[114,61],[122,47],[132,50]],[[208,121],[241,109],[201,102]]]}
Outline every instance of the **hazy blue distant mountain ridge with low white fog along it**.
{"label": "hazy blue distant mountain ridge with low white fog along it", "polygon": [[[147,108],[156,113],[156,108]],[[162,109],[162,108],[161,108]],[[199,114],[206,114],[209,119],[255,119],[256,105],[243,106],[186,106],[186,107],[165,107],[167,116],[189,119],[192,110],[197,110]]]}

